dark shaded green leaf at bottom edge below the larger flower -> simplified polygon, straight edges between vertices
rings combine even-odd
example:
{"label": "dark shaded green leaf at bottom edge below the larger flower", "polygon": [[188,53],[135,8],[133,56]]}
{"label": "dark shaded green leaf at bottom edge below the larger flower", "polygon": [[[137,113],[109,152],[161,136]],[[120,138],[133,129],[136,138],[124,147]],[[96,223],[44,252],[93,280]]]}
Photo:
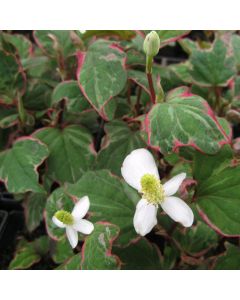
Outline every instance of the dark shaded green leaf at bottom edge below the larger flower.
{"label": "dark shaded green leaf at bottom edge below the larger flower", "polygon": [[114,247],[113,252],[119,256],[124,270],[160,270],[160,251],[155,244],[141,238],[126,248]]}

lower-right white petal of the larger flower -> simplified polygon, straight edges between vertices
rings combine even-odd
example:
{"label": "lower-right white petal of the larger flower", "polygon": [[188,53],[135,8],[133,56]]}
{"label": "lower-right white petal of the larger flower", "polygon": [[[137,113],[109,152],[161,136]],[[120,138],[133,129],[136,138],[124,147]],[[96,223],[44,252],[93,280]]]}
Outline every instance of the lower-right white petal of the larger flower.
{"label": "lower-right white petal of the larger flower", "polygon": [[184,227],[192,226],[194,215],[191,208],[178,197],[166,197],[161,203],[162,209],[175,222],[181,223]]}

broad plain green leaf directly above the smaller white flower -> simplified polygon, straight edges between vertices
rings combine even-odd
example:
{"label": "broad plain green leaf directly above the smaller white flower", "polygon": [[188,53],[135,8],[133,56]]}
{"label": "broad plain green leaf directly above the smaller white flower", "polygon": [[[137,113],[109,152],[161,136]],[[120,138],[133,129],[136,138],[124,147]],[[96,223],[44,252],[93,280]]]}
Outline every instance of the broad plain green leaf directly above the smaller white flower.
{"label": "broad plain green leaf directly above the smaller white flower", "polygon": [[87,129],[71,125],[65,128],[42,128],[33,134],[45,143],[50,155],[46,174],[60,182],[76,182],[92,165],[95,154],[92,136]]}

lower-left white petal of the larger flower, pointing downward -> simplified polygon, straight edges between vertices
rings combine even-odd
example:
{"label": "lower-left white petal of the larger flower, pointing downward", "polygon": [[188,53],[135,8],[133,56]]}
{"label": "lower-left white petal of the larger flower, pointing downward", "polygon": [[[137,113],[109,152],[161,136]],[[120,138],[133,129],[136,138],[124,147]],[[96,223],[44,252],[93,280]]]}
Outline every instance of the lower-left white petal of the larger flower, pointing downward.
{"label": "lower-left white petal of the larger flower, pointing downward", "polygon": [[157,207],[141,199],[136,207],[133,224],[138,234],[148,234],[157,224]]}

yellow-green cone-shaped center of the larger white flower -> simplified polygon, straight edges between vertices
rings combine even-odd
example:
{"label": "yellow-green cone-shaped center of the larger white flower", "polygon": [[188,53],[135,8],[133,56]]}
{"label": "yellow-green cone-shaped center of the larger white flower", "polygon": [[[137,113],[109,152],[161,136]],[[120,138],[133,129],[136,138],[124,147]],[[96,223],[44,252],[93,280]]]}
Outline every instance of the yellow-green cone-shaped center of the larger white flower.
{"label": "yellow-green cone-shaped center of the larger white flower", "polygon": [[152,174],[145,174],[141,178],[141,193],[149,203],[158,205],[164,199],[164,189],[161,181]]}

